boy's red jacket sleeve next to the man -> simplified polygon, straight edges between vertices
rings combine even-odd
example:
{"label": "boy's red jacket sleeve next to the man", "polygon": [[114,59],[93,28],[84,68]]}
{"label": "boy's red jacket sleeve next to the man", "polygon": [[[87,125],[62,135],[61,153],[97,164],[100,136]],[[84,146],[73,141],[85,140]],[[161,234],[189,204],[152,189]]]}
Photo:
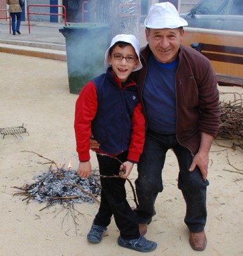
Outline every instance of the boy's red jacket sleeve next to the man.
{"label": "boy's red jacket sleeve next to the man", "polygon": [[141,104],[137,104],[132,115],[132,134],[129,146],[128,160],[138,162],[145,144],[145,116]]}

